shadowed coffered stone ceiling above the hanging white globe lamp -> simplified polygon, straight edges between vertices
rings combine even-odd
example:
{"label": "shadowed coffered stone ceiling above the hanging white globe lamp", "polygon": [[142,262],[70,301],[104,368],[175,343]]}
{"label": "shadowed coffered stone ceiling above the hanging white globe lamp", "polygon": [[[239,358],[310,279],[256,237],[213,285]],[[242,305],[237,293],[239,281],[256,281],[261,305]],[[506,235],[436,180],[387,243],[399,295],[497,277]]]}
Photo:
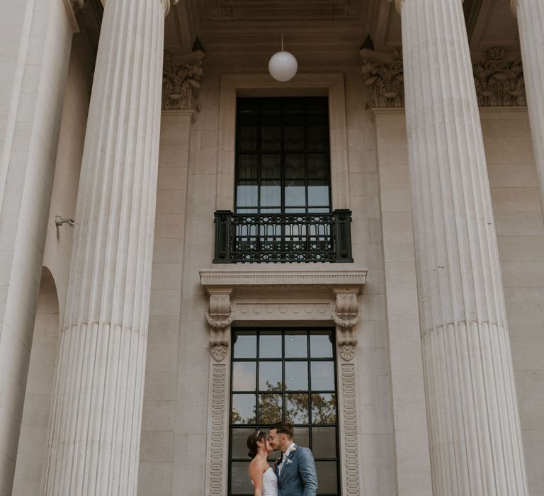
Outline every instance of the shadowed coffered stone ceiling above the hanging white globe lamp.
{"label": "shadowed coffered stone ceiling above the hanging white globe lamp", "polygon": [[[497,45],[519,56],[509,0],[465,0],[463,9],[473,57]],[[180,0],[166,18],[165,47],[181,55],[198,36],[207,58],[254,65],[279,49],[282,33],[302,65],[356,62],[368,35],[378,52],[402,45],[400,16],[387,0]]]}

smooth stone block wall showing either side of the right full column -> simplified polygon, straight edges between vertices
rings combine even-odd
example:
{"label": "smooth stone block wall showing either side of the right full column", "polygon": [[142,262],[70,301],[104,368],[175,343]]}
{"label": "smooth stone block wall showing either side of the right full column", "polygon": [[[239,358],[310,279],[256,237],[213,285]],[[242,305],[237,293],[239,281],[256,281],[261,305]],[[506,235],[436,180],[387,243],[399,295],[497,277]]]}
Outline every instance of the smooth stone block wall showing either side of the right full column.
{"label": "smooth stone block wall showing either side of the right full column", "polygon": [[[481,109],[480,118],[529,490],[531,496],[541,496],[544,494],[540,470],[544,458],[544,227],[528,114],[524,109]],[[419,496],[430,494],[430,471],[422,409],[424,387],[404,112],[376,111],[376,123],[399,495]]]}

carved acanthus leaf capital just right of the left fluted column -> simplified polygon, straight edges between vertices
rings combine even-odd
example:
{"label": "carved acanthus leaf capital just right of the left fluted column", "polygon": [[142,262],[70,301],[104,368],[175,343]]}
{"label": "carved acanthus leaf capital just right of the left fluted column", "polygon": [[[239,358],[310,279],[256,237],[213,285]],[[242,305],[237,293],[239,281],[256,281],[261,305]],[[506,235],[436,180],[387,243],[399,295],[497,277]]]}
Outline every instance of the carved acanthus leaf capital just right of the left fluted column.
{"label": "carved acanthus leaf capital just right of the left fluted column", "polygon": [[197,103],[200,80],[203,77],[204,52],[191,53],[180,65],[174,63],[170,52],[164,52],[162,78],[162,109],[165,111],[200,111]]}

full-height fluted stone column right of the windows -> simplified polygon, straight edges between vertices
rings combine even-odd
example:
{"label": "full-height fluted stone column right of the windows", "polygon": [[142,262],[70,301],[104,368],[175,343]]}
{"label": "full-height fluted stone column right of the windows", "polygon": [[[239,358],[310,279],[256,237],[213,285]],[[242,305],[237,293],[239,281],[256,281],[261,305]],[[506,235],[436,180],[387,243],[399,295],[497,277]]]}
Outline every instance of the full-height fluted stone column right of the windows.
{"label": "full-height fluted stone column right of the windows", "polygon": [[462,2],[397,9],[433,495],[527,495]]}

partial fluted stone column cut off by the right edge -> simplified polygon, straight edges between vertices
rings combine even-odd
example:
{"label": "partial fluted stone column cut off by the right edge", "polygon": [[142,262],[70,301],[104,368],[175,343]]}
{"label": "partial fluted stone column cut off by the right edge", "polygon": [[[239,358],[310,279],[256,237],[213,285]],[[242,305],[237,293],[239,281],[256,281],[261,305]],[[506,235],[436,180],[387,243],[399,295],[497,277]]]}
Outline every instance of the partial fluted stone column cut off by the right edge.
{"label": "partial fluted stone column cut off by the right edge", "polygon": [[540,188],[540,207],[544,215],[544,4],[542,0],[511,0],[511,7],[518,18],[523,79]]}

